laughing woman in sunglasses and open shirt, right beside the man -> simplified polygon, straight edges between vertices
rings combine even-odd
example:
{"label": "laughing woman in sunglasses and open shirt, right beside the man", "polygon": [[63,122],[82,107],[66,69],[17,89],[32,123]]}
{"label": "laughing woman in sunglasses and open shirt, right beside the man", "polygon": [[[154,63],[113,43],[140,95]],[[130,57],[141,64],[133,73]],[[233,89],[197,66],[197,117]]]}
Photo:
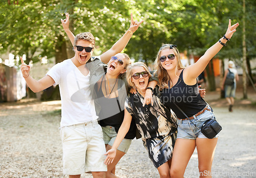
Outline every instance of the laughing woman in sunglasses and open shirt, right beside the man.
{"label": "laughing woman in sunglasses and open shirt, right beside the man", "polygon": [[[121,102],[120,98],[126,98],[127,91],[124,82],[119,78],[119,76],[125,73],[126,67],[129,64],[131,64],[131,59],[126,54],[119,53],[111,57],[108,67],[106,68],[106,72],[94,86],[97,95],[96,102],[101,108],[98,116],[107,151],[111,149],[123,120],[124,103]],[[126,146],[126,149],[123,150],[122,147],[119,148],[115,162],[108,165],[108,171],[106,172],[107,177],[114,176],[113,173],[115,173],[116,164],[129,149],[135,135],[136,130],[134,123],[130,129],[130,132],[127,133],[126,137],[122,140],[122,143]]]}

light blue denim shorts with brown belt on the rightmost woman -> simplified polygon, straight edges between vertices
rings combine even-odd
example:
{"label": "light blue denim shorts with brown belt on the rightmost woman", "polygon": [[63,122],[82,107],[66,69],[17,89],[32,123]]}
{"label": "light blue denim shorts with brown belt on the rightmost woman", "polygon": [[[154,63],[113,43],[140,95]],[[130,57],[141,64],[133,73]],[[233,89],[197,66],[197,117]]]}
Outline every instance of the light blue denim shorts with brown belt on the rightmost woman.
{"label": "light blue denim shorts with brown belt on the rightmost woman", "polygon": [[[190,119],[194,124],[197,125],[197,127],[191,123],[188,119],[181,120],[177,119],[178,123],[178,134],[177,134],[177,139],[178,138],[183,138],[183,139],[192,139],[195,140],[197,138],[207,138],[203,135],[201,132],[201,128],[203,123],[211,118],[215,118],[214,113],[212,112],[212,109],[210,106],[206,106],[206,109],[202,114],[198,116],[193,116],[194,119]],[[218,138],[219,134],[215,136],[215,138]]]}

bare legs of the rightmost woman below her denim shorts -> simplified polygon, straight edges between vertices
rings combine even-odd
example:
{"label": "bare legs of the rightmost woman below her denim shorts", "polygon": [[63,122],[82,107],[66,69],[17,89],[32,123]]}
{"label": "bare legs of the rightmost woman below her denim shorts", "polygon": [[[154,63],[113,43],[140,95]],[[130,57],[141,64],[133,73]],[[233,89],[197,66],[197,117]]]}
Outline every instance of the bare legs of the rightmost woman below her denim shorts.
{"label": "bare legs of the rightmost woman below her denim shorts", "polygon": [[218,138],[177,139],[174,146],[172,166],[170,167],[170,176],[172,178],[183,177],[190,157],[197,146],[200,178],[211,177],[211,164],[214,159],[217,141]]}

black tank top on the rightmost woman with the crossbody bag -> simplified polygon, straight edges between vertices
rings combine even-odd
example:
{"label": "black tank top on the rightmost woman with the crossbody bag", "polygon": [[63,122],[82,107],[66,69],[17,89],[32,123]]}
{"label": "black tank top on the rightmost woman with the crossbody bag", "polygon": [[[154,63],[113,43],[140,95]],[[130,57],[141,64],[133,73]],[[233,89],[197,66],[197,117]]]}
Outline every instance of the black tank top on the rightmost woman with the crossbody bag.
{"label": "black tank top on the rightmost woman with the crossbody bag", "polygon": [[186,85],[183,81],[183,70],[180,73],[177,84],[172,88],[165,88],[161,92],[161,101],[163,104],[172,109],[176,116],[180,119],[185,119],[186,116],[173,104],[176,103],[181,110],[191,117],[202,111],[206,103],[199,94],[198,84]]}

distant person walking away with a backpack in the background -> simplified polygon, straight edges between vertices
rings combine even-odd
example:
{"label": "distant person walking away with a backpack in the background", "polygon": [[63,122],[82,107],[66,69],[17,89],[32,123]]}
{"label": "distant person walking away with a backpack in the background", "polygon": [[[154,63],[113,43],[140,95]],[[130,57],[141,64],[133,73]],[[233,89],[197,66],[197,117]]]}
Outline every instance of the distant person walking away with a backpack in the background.
{"label": "distant person walking away with a backpack in the background", "polygon": [[234,96],[236,95],[237,82],[239,81],[238,71],[233,61],[228,61],[228,68],[225,70],[221,89],[225,89],[225,98],[228,102],[228,111],[233,111]]}

